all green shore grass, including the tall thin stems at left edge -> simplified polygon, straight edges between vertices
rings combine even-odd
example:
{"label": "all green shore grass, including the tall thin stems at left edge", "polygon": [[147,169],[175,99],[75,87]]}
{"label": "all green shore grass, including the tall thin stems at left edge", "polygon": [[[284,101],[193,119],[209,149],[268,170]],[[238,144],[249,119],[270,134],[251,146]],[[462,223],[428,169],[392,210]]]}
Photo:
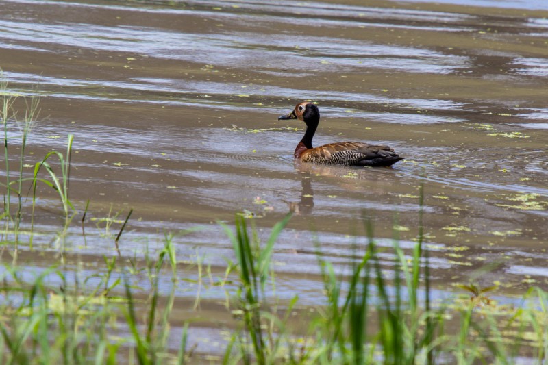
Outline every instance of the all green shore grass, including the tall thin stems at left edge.
{"label": "all green shore grass, including the tall thin stems at left edge", "polygon": [[[316,244],[324,297],[323,303],[314,307],[299,305],[298,296],[277,296],[271,259],[290,215],[273,226],[266,241],[261,240],[253,218],[236,214],[234,225],[219,222],[234,254],[221,277],[213,278],[200,257],[193,263],[193,273],[183,270],[173,234],[165,234],[157,252],[147,247],[142,259],[121,257],[118,244],[125,227],[131,225],[131,210],[116,223],[119,231],[104,236],[116,245],[118,255],[103,257],[100,274],[87,275],[79,264],[69,267],[64,244],[57,246],[49,268],[29,271],[18,260],[18,244],[23,234],[29,236],[28,250],[33,251],[37,186],[55,190],[62,203],[60,242],[69,227],[79,225],[75,217],[82,217],[82,241],[86,240],[83,224],[89,201],[77,212],[69,199],[73,136],[68,136],[65,153],[51,151],[34,162],[32,176],[23,173],[29,162],[27,136],[40,111],[38,97],[14,95],[1,76],[0,81],[5,160],[0,216],[3,364],[546,362],[548,296],[541,288],[523,293],[521,305],[516,307],[491,299],[497,288],[479,288],[473,283],[460,286],[465,294],[433,301],[428,251],[423,249],[422,209],[419,236],[410,254],[399,247],[397,239],[391,249],[379,249],[375,222],[366,212],[362,221],[368,242],[356,248],[356,260],[344,275],[336,272]],[[25,110],[18,114],[14,105],[22,101]],[[10,154],[14,138],[20,138],[16,159]],[[30,207],[25,203],[27,196],[32,201]],[[423,197],[421,188],[421,207]],[[29,227],[21,224],[25,214],[29,215]],[[388,271],[381,267],[381,251],[396,257]],[[198,288],[195,302],[184,303],[182,308],[176,300],[177,291],[188,283]],[[200,314],[200,301],[207,300],[201,297],[200,288],[205,291],[208,287],[225,291],[222,310],[232,316],[230,325],[210,319],[210,327],[223,338],[214,356],[198,350],[192,334],[197,323],[207,323]],[[178,318],[182,311],[190,313],[190,319]]]}

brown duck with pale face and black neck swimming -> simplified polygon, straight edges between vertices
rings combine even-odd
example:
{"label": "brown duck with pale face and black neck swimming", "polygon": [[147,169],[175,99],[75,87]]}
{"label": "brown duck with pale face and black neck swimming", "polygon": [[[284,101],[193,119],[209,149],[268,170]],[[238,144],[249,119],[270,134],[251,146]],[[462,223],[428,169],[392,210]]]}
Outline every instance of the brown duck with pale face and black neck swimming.
{"label": "brown duck with pale face and black neck swimming", "polygon": [[299,119],[306,124],[303,138],[295,148],[294,156],[303,162],[314,164],[389,167],[403,160],[393,149],[364,142],[336,142],[312,147],[312,138],[320,123],[320,111],[314,103],[303,101],[278,121]]}

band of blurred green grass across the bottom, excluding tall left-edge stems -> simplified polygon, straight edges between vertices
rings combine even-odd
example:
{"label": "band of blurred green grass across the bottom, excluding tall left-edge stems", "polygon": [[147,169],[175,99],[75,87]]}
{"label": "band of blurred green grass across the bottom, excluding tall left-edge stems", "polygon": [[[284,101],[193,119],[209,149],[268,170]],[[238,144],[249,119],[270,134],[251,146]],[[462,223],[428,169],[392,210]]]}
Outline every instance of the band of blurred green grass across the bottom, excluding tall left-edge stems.
{"label": "band of blurred green grass across the bottom, excluding tall left-edge stems", "polygon": [[[373,223],[367,220],[369,242],[346,273],[337,273],[318,249],[323,303],[299,307],[298,297],[277,299],[271,258],[288,219],[277,223],[264,243],[253,222],[250,229],[241,216],[235,231],[223,226],[235,257],[227,273],[238,284],[229,290],[234,327],[219,359],[223,364],[512,364],[523,355],[534,364],[547,360],[546,292],[529,290],[516,309],[496,305],[476,287],[472,297],[426,310],[428,263],[421,250],[406,254],[395,241],[397,264],[382,268]],[[66,271],[58,264],[29,280],[27,268],[3,264],[0,363],[199,360],[192,354],[197,342],[192,321],[173,317],[175,293],[188,283],[177,264],[171,235],[154,258],[147,254],[141,264],[129,260],[128,266],[116,255],[105,257],[104,270],[90,277],[82,277],[82,268]],[[415,280],[416,268],[421,275]],[[160,277],[171,279],[169,287],[164,280],[162,289]],[[136,286],[142,279],[146,285]],[[200,315],[197,308],[195,315]],[[297,318],[308,323],[306,333],[295,331]],[[177,349],[169,346],[174,342]]]}

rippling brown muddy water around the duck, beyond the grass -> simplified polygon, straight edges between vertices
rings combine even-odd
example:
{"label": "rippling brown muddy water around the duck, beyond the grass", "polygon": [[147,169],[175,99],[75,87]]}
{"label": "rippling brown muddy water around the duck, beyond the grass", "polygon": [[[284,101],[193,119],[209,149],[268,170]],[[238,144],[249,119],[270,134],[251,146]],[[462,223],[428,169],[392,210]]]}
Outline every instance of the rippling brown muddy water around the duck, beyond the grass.
{"label": "rippling brown muddy water around the duck, beyond the grass", "polygon": [[[367,4],[0,1],[3,75],[12,92],[41,97],[25,162],[75,136],[71,199],[80,214],[90,199],[90,210],[85,243],[79,225],[63,243],[71,267],[103,270],[103,255],[116,255],[104,236],[120,225],[100,220],[133,208],[122,256],[200,226],[175,237],[179,259],[203,257],[222,276],[233,256],[217,220],[246,212],[267,234],[293,211],[275,246],[276,294],[314,305],[323,298],[314,241],[345,270],[366,242],[365,214],[377,244],[390,247],[396,225],[411,247],[423,181],[436,297],[486,264],[475,280],[499,284],[500,301],[548,287],[548,5]],[[303,124],[277,116],[303,100],[321,110],[316,145],[382,142],[406,160],[295,163]],[[16,144],[19,131],[10,133]],[[34,251],[23,242],[19,257],[36,272],[58,251],[63,221],[55,194],[39,196]],[[394,257],[384,258],[389,268]],[[180,318],[193,315],[195,294],[178,293]],[[223,290],[201,295],[201,316],[226,324]],[[221,341],[208,326],[194,329],[206,352]]]}

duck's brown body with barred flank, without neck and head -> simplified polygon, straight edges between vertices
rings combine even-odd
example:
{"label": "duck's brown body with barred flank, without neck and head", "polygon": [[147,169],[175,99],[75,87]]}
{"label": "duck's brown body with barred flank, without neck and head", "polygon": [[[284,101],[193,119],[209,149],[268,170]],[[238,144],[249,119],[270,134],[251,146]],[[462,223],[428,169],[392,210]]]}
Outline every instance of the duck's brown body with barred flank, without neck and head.
{"label": "duck's brown body with barred flank, without neck and head", "polygon": [[362,142],[338,142],[307,149],[303,162],[344,166],[391,166],[403,160],[388,146],[373,146]]}

